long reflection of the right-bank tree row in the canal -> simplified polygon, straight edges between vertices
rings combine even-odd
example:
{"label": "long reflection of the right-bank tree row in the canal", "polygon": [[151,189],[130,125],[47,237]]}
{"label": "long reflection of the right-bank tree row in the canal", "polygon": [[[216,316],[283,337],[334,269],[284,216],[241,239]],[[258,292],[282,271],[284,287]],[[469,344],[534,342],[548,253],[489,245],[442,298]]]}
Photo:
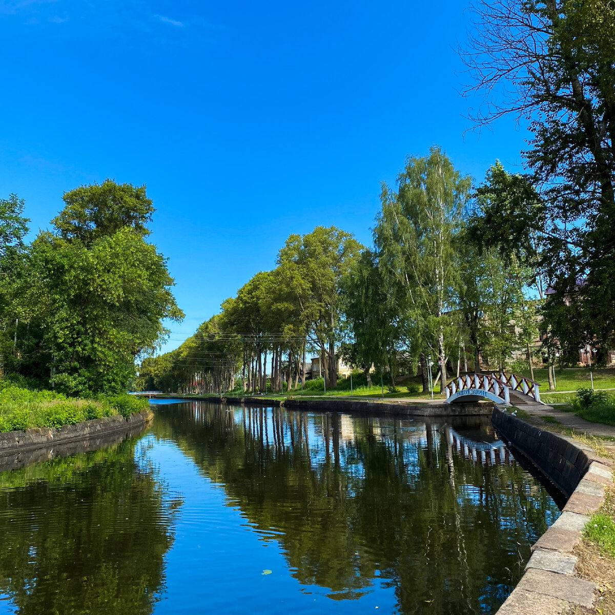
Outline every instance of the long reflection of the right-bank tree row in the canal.
{"label": "long reflection of the right-bank tree row in the canal", "polygon": [[494,612],[558,514],[485,421],[192,402],[159,408],[154,432],[336,601],[384,590],[400,613]]}

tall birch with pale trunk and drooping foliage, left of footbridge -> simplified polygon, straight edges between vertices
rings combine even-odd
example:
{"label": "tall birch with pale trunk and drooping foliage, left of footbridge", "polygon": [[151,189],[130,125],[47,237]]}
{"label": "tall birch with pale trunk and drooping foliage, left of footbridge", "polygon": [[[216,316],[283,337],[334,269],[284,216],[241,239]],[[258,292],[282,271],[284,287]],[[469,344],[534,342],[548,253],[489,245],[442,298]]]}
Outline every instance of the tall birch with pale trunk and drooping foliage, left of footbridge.
{"label": "tall birch with pale trunk and drooping foliage, left of footbridge", "polygon": [[462,228],[470,178],[440,148],[424,157],[408,157],[397,177],[397,191],[384,185],[374,240],[385,279],[400,292],[399,313],[412,328],[425,355],[433,350],[446,384],[446,313],[459,285],[454,238]]}

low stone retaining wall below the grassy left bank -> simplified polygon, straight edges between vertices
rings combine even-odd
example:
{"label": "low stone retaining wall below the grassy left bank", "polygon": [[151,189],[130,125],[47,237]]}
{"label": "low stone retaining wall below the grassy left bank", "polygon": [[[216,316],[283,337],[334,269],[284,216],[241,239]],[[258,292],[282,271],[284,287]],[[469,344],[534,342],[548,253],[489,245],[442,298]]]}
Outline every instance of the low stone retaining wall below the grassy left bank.
{"label": "low stone retaining wall below the grassy left bank", "polygon": [[151,410],[142,410],[125,419],[123,416],[105,416],[74,425],[64,425],[58,429],[35,427],[26,431],[0,433],[0,456],[37,448],[51,448],[71,442],[82,442],[89,438],[103,437],[118,432],[130,432],[142,427],[153,418]]}

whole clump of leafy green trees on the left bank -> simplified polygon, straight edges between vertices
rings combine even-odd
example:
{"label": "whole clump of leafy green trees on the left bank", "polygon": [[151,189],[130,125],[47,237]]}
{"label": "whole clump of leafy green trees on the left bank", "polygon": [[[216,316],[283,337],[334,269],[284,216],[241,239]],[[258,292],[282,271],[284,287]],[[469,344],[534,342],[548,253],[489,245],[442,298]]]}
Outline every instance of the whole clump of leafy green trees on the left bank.
{"label": "whole clump of leafy green trees on the left bank", "polygon": [[146,241],[145,186],[106,180],[63,196],[25,243],[17,196],[0,199],[0,375],[69,394],[125,391],[135,358],[183,317],[164,257]]}

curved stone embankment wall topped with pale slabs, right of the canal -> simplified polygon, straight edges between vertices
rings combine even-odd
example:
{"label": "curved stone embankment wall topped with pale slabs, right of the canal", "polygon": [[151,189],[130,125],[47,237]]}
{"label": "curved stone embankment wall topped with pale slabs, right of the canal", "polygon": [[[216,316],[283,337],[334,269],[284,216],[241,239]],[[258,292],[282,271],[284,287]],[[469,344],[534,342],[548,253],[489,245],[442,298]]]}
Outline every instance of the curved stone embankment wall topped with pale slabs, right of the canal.
{"label": "curved stone embankment wall topped with pale slabs, right of the canal", "polygon": [[595,606],[596,585],[574,576],[573,549],[582,531],[614,486],[613,467],[589,446],[551,432],[494,408],[493,424],[566,496],[557,521],[532,547],[532,556],[517,587],[498,615],[565,615],[577,607]]}

